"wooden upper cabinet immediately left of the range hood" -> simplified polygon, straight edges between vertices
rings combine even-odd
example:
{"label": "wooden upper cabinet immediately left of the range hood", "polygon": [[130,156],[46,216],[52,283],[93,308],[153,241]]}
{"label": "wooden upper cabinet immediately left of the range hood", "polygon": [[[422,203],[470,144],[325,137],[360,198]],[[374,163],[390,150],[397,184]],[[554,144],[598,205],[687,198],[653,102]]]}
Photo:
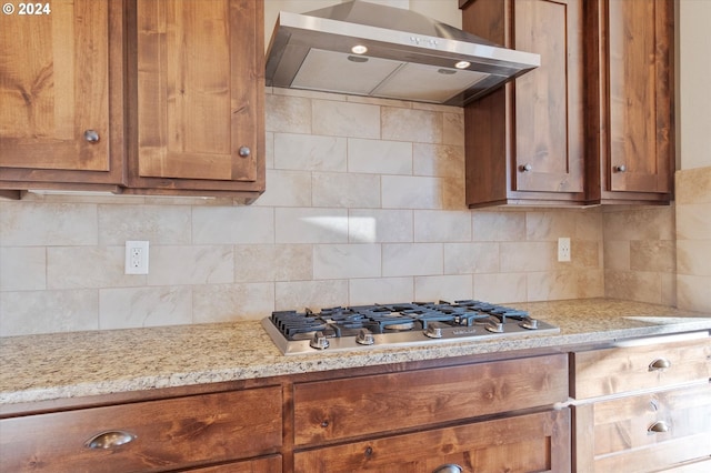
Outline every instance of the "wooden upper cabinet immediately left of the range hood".
{"label": "wooden upper cabinet immediately left of the range hood", "polygon": [[263,11],[254,0],[138,0],[130,187],[261,192]]}

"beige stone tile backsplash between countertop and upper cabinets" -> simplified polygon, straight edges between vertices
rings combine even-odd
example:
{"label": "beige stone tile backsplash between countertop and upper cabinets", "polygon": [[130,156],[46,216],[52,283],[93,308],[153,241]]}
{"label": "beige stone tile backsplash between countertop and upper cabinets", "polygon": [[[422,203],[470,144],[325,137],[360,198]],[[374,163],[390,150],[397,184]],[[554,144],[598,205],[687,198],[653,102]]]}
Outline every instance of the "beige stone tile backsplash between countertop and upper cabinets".
{"label": "beige stone tile backsplash between countertop and upper cabinets", "polygon": [[[267,192],[252,205],[0,202],[0,335],[440,298],[673,304],[677,259],[680,288],[711,293],[694,256],[711,252],[711,197],[680,192],[679,248],[674,208],[469,211],[463,144],[461,109],[269,90]],[[126,240],[150,241],[148,275],[123,274]]]}

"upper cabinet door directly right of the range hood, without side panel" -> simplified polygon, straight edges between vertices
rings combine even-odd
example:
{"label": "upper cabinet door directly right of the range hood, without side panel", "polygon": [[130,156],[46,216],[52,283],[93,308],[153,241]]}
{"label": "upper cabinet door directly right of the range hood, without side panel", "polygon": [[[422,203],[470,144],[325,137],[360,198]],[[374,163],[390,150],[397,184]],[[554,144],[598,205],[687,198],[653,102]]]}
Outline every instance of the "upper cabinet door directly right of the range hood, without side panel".
{"label": "upper cabinet door directly right of the range hood, without side panel", "polygon": [[515,80],[515,190],[582,192],[582,12],[577,0],[513,2],[515,43],[541,66]]}

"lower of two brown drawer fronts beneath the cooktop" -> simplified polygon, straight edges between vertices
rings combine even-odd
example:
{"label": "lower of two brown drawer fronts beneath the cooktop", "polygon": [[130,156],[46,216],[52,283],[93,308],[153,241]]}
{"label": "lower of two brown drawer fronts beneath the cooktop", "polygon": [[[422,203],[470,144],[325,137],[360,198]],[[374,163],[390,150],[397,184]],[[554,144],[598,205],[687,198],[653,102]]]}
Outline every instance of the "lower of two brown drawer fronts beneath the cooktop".
{"label": "lower of two brown drawer fronts beneath the cooktop", "polygon": [[541,412],[495,421],[298,452],[297,473],[569,472],[570,412]]}

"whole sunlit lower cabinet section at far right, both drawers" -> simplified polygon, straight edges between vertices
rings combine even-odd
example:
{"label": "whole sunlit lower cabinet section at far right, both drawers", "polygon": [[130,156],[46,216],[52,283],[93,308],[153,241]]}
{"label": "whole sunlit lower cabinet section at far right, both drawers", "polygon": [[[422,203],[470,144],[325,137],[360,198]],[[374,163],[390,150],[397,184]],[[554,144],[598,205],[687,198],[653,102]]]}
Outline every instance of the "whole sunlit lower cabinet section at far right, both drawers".
{"label": "whole sunlit lower cabinet section at far right, both drawers", "polygon": [[573,471],[711,471],[711,338],[571,353]]}

